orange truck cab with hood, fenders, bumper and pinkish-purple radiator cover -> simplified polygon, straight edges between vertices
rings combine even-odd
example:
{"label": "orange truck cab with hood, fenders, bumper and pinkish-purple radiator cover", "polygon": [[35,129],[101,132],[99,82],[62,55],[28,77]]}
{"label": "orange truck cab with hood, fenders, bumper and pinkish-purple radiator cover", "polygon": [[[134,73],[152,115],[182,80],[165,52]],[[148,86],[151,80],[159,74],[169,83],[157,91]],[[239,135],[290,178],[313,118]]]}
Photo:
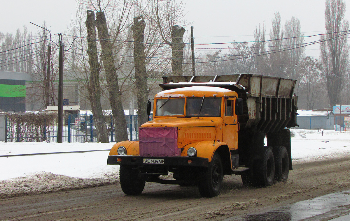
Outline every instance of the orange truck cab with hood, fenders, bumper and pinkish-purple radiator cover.
{"label": "orange truck cab with hood, fenders, bumper and pinkish-purple radiator cover", "polygon": [[[219,194],[223,175],[232,174],[232,169],[238,167],[240,100],[235,91],[210,86],[176,88],[156,94],[153,120],[139,128],[139,141],[118,142],[110,151],[108,163],[121,165],[122,188],[125,183],[122,170],[128,167],[127,173],[133,171],[138,180],[193,184],[199,186],[205,197]],[[214,157],[215,185],[213,181],[203,181]],[[174,179],[158,177],[169,172]],[[125,188],[130,187],[131,181],[126,183]],[[126,192],[134,194],[132,190]]]}

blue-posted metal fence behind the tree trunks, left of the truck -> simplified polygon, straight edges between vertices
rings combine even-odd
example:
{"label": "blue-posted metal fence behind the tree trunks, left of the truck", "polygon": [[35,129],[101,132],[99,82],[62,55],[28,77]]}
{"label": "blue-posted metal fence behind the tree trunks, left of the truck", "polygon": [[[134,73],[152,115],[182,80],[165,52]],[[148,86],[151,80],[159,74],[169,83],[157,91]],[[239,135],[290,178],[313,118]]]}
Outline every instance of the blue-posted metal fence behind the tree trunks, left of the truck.
{"label": "blue-posted metal fence behind the tree trunks, left of the truck", "polygon": [[[137,115],[125,115],[129,140],[138,140]],[[93,115],[65,115],[63,119],[63,142],[97,142],[97,131]],[[109,141],[115,141],[118,126],[113,122],[112,115],[105,115]],[[33,130],[32,128],[35,128]],[[6,142],[57,142],[57,121],[54,125],[33,126],[30,122],[6,123]]]}

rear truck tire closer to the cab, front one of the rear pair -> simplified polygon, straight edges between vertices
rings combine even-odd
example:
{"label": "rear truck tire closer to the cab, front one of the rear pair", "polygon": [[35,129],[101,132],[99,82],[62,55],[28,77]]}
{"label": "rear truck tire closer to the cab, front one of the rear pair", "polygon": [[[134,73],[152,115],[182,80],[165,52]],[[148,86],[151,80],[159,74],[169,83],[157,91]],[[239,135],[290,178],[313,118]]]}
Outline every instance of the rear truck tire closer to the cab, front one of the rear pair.
{"label": "rear truck tire closer to the cab, front one of the rear pair", "polygon": [[275,161],[272,150],[267,148],[264,151],[264,158],[260,164],[259,181],[261,186],[272,186],[275,176]]}

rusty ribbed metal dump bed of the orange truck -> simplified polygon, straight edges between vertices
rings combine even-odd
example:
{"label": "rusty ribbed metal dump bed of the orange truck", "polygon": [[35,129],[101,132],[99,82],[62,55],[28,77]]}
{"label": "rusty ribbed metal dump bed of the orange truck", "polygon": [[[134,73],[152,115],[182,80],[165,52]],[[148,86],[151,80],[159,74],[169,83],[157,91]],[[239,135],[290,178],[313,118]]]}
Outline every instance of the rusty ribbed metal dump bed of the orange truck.
{"label": "rusty ribbed metal dump bed of the orange truck", "polygon": [[222,76],[163,77],[164,90],[213,86],[227,88],[244,100],[243,115],[238,117],[241,130],[259,130],[265,133],[297,126],[296,80],[258,74],[231,74]]}

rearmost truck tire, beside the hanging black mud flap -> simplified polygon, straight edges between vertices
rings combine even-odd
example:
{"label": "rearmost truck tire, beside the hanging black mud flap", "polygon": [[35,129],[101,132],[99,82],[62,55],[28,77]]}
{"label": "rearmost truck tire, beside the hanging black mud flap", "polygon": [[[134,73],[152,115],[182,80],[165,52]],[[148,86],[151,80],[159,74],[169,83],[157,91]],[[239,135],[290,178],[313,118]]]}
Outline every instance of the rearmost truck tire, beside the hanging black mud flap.
{"label": "rearmost truck tire, beside the hanging black mud flap", "polygon": [[275,152],[275,181],[286,183],[289,174],[289,157],[285,147],[277,147]]}

